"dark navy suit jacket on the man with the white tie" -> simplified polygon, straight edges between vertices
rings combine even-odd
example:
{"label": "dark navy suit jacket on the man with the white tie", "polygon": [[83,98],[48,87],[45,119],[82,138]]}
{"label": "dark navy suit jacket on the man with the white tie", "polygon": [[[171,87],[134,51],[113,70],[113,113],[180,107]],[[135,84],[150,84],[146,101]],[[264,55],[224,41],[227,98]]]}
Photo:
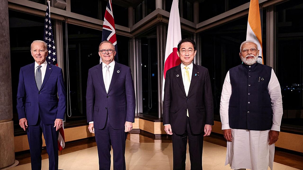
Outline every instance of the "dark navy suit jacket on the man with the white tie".
{"label": "dark navy suit jacket on the man with the white tie", "polygon": [[106,93],[102,63],[88,71],[86,90],[87,122],[94,128],[105,127],[107,114],[114,129],[124,129],[125,121],[135,122],[135,90],[131,69],[115,62],[112,80]]}

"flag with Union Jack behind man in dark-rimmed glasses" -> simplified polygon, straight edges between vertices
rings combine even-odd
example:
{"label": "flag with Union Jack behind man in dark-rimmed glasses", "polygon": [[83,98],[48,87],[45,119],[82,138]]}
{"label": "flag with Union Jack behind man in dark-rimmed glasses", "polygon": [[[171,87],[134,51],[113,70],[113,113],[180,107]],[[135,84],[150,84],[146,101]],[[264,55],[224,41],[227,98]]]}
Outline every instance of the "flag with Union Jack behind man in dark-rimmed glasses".
{"label": "flag with Union Jack behind man in dark-rimmed glasses", "polygon": [[[112,8],[112,0],[108,1],[104,15],[102,41],[110,41],[112,44],[115,45],[115,50],[116,50],[115,61],[118,62],[117,38],[116,38],[115,21],[114,21],[113,8]],[[100,63],[101,63],[101,58],[100,58]]]}

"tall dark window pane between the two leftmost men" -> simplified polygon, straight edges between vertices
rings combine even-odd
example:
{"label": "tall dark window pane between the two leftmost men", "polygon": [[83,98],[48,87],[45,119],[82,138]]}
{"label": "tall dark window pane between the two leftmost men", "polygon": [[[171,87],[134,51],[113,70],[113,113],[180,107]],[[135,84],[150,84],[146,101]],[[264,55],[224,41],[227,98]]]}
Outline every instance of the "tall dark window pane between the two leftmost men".
{"label": "tall dark window pane between the two leftmost men", "polygon": [[[63,22],[65,30],[65,22]],[[65,45],[65,31],[63,32]],[[86,119],[86,83],[88,69],[99,64],[98,46],[101,43],[102,31],[67,24],[68,35],[68,60],[66,58],[66,46],[64,47],[64,77],[66,91],[68,93],[67,121]],[[67,67],[68,63],[68,67]],[[67,75],[69,70],[69,74]],[[69,81],[69,86],[67,82]],[[71,110],[70,110],[71,108]]]}

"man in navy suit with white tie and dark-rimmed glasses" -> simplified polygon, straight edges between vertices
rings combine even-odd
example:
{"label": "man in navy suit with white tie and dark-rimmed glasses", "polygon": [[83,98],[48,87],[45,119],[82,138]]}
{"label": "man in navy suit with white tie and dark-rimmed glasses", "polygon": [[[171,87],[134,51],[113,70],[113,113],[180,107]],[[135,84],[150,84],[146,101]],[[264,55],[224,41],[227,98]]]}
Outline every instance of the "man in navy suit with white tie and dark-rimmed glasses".
{"label": "man in navy suit with white tie and dark-rimmed glasses", "polygon": [[125,141],[135,122],[135,90],[131,69],[114,61],[115,46],[109,41],[99,45],[102,63],[88,71],[86,114],[88,129],[95,133],[99,169],[125,168]]}

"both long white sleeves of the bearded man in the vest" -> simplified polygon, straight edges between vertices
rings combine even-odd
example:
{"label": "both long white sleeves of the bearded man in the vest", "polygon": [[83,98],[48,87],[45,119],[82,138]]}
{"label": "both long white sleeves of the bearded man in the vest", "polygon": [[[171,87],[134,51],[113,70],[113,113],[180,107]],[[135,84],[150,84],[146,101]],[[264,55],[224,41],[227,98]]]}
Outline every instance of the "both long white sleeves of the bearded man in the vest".
{"label": "both long white sleeves of the bearded man in the vest", "polygon": [[[231,89],[232,87],[228,71],[222,87],[220,101],[220,117],[222,123],[222,130],[230,129],[228,121],[228,106],[229,99],[231,96]],[[281,119],[283,114],[282,95],[278,78],[273,69],[271,69],[271,77],[268,83],[268,94],[271,98],[271,108],[273,114],[271,130],[280,131]]]}

